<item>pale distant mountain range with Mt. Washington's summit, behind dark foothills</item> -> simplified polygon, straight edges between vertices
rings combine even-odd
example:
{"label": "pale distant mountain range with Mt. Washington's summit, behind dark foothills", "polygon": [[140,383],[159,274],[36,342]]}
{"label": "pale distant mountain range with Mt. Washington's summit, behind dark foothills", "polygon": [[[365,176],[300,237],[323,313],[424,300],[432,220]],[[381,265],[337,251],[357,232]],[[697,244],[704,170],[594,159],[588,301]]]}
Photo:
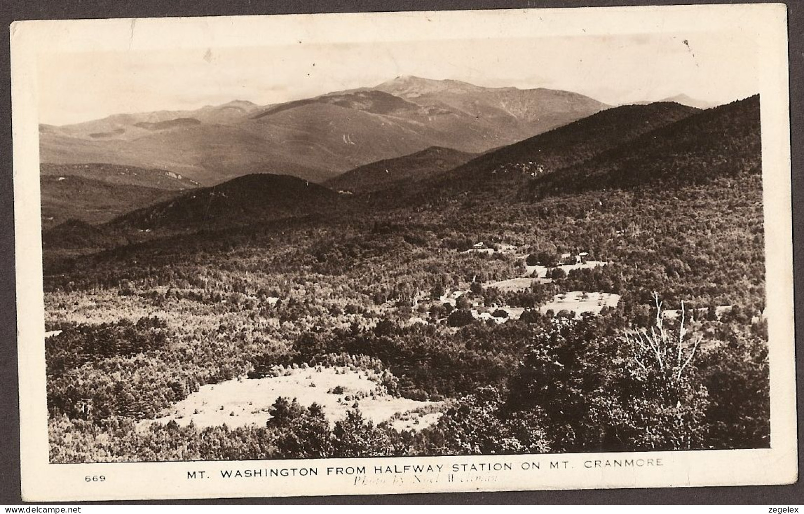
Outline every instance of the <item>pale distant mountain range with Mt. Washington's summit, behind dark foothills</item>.
{"label": "pale distant mountain range with Mt. Washington's summit, behind dark foothills", "polygon": [[39,146],[44,163],[158,168],[207,186],[252,173],[321,183],[431,146],[481,153],[608,107],[560,90],[400,76],[279,105],[232,101],[40,125]]}

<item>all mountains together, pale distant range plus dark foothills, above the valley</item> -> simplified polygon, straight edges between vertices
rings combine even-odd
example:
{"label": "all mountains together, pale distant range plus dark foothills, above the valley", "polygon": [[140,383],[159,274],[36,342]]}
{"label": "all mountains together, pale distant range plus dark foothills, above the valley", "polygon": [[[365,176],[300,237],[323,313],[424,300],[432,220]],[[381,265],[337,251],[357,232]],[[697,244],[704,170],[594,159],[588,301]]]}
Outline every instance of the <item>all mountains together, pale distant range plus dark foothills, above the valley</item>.
{"label": "all mountains together, pale distant range plus dark foothills, above the valley", "polygon": [[[758,170],[758,112],[758,97],[609,108],[576,93],[404,76],[279,105],[42,125],[43,228],[51,244],[64,232],[98,247],[109,231],[117,245],[335,212],[699,183]],[[48,152],[83,162],[47,162]],[[142,166],[113,162],[129,153]],[[313,164],[330,167],[320,185],[306,177]]]}

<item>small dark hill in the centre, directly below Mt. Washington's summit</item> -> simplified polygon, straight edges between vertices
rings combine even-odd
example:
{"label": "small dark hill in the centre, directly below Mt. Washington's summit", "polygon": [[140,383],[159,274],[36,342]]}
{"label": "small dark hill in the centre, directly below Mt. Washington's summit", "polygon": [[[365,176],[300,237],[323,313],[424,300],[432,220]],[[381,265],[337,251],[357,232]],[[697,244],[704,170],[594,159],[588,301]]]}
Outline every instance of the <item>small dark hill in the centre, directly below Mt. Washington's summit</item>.
{"label": "small dark hill in the centre, directly below Mt. Washington's summit", "polygon": [[415,154],[384,159],[357,167],[327,180],[324,185],[334,191],[365,193],[379,191],[401,181],[417,181],[458,167],[477,154],[451,148],[431,146]]}

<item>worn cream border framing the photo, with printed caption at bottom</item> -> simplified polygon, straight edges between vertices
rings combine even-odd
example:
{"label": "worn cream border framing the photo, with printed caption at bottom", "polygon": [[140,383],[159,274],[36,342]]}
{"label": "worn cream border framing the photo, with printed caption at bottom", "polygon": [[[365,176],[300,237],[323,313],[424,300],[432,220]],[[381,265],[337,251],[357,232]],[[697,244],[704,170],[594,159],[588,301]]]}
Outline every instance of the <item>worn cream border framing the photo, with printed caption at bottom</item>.
{"label": "worn cream border framing the photo, with printed caption at bottom", "polygon": [[[449,22],[450,32],[428,28]],[[270,25],[273,32],[260,31]],[[137,31],[161,34],[134,38]],[[433,23],[433,27],[441,27]],[[592,28],[594,27],[594,29]],[[229,47],[282,43],[301,31],[322,43],[366,42],[371,38],[467,38],[473,33],[519,37],[634,31],[715,31],[741,27],[759,45],[761,76],[762,173],[765,205],[767,313],[771,370],[770,449],[638,452],[630,454],[540,454],[482,457],[310,459],[171,463],[48,462],[47,400],[44,366],[42,242],[39,203],[37,62],[54,51],[102,51],[134,45]],[[504,31],[504,32],[503,32]],[[266,34],[271,34],[266,36]],[[477,35],[474,35],[477,37]],[[14,138],[14,218],[20,376],[20,442],[23,500],[153,500],[287,495],[363,495],[447,491],[519,491],[608,487],[689,487],[794,483],[798,478],[794,376],[792,216],[790,201],[790,116],[784,4],[721,6],[589,7],[506,11],[299,14],[195,19],[53,20],[15,22],[10,27],[12,134]],[[600,470],[593,460],[658,459],[657,467]],[[441,465],[444,473],[376,475],[375,467],[404,469],[411,464]],[[473,474],[449,481],[447,471],[462,463],[491,467],[508,463],[511,471]],[[536,470],[534,463],[540,463]],[[553,463],[556,464],[553,467]],[[314,468],[316,476],[270,479],[221,479],[221,470]],[[365,467],[367,483],[338,467]],[[530,469],[524,469],[528,467]],[[333,474],[328,474],[329,470]],[[198,477],[203,471],[205,479]],[[105,475],[104,483],[86,477]]]}

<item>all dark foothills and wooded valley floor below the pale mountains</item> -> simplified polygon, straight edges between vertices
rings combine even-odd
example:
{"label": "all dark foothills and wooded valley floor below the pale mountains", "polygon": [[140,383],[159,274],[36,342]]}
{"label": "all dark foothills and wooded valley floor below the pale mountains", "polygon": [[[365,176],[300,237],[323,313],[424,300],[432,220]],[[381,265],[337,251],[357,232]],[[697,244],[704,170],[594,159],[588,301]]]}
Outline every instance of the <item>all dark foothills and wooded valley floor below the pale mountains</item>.
{"label": "all dark foothills and wooded valley floor below the pale mountains", "polygon": [[[758,106],[609,109],[396,201],[254,175],[92,227],[46,268],[51,461],[768,447]],[[504,194],[445,179],[539,154]],[[252,384],[293,393],[216,396]]]}

